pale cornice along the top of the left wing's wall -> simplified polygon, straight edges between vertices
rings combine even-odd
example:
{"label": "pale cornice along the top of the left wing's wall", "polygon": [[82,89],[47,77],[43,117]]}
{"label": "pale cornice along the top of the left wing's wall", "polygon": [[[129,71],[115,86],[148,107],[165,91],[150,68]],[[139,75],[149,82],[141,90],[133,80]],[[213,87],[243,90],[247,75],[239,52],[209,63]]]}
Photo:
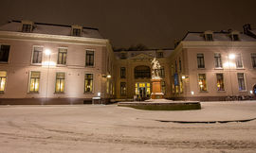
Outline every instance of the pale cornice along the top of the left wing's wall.
{"label": "pale cornice along the top of the left wing's wall", "polygon": [[0,31],[0,38],[14,39],[14,40],[28,40],[28,41],[47,41],[47,42],[69,42],[69,43],[82,43],[88,45],[103,45],[106,46],[109,41],[107,39],[84,38],[84,37],[71,37],[61,35],[48,35],[37,33],[23,33],[23,32],[9,32]]}

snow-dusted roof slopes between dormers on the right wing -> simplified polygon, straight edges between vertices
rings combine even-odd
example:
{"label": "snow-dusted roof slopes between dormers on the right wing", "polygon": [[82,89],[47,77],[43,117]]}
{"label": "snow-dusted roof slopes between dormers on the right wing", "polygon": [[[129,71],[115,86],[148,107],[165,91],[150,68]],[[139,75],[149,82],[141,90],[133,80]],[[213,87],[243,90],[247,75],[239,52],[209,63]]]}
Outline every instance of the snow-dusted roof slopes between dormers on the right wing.
{"label": "snow-dusted roof slopes between dormers on the right wing", "polygon": [[[205,41],[204,32],[188,32],[182,41]],[[213,42],[232,42],[232,39],[229,32],[213,32]],[[239,33],[238,42],[256,42],[256,39]]]}

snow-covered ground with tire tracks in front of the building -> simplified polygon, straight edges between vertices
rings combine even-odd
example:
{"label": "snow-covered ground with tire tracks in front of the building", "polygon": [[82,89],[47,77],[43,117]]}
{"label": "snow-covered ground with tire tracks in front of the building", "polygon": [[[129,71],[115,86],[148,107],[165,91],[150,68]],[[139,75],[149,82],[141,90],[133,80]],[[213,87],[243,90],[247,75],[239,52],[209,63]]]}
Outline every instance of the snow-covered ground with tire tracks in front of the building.
{"label": "snow-covered ground with tire tracks in front of the building", "polygon": [[256,101],[205,102],[202,110],[117,105],[0,106],[0,153],[256,152]]}

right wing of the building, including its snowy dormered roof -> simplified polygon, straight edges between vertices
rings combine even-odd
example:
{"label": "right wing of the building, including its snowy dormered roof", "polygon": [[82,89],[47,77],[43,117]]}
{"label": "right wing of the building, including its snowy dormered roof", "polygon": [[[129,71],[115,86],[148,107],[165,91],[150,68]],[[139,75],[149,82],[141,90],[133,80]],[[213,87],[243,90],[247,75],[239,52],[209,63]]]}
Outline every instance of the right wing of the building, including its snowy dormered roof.
{"label": "right wing of the building, including its snowy dormered roof", "polygon": [[208,101],[256,94],[255,55],[256,39],[245,33],[189,32],[169,57],[171,98]]}

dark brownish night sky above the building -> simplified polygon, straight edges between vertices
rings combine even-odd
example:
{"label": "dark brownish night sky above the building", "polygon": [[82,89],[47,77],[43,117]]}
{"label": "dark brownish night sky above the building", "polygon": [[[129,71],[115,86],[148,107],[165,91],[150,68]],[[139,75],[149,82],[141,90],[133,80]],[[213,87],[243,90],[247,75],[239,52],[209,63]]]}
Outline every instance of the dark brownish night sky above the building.
{"label": "dark brownish night sky above the building", "polygon": [[256,28],[256,0],[0,0],[9,20],[98,27],[115,47],[172,48],[187,31]]}

